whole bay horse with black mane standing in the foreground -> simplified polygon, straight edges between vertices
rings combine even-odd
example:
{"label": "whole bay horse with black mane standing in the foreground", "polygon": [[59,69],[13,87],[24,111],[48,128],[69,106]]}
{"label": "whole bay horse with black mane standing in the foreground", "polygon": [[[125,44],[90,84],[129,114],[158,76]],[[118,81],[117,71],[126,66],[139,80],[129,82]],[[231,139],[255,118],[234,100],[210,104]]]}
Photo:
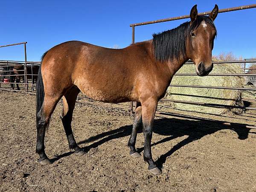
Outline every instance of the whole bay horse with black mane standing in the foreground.
{"label": "whole bay horse with black mane standing in the foreground", "polygon": [[77,145],[71,129],[76,97],[81,91],[101,102],[137,102],[128,141],[130,155],[140,157],[135,142],[142,124],[144,160],[152,174],[161,174],[151,155],[157,102],[164,97],[174,74],[189,59],[194,62],[198,76],[207,76],[212,70],[213,41],[217,33],[213,20],[217,15],[217,5],[209,16],[199,16],[195,5],[190,11],[190,21],[175,29],[154,34],[149,41],[131,44],[123,49],[68,41],[45,52],[36,84],[38,161],[42,165],[52,163],[45,154],[44,137],[52,112],[61,97],[61,121],[69,148],[79,156],[85,153]]}

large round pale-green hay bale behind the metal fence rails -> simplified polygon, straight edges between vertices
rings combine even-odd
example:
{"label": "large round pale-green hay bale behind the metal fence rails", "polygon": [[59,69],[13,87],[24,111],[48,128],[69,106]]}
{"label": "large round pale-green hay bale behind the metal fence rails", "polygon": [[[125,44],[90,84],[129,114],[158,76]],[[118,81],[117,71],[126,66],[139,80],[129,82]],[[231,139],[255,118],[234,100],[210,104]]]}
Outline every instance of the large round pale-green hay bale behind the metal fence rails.
{"label": "large round pale-green hay bale behind the metal fence rails", "polygon": [[[177,73],[195,73],[194,64],[185,64]],[[213,73],[242,73],[239,64],[215,64]],[[210,73],[210,74],[211,74]],[[201,85],[216,87],[243,87],[244,78],[239,76],[174,76],[171,84],[178,85]],[[243,106],[241,100],[242,90],[195,88],[195,87],[169,87],[166,93],[167,99],[214,103],[222,105]],[[215,108],[203,105],[190,105],[183,103],[174,103],[174,108],[185,111],[195,111],[209,114],[224,114],[233,112],[243,113],[242,109]]]}

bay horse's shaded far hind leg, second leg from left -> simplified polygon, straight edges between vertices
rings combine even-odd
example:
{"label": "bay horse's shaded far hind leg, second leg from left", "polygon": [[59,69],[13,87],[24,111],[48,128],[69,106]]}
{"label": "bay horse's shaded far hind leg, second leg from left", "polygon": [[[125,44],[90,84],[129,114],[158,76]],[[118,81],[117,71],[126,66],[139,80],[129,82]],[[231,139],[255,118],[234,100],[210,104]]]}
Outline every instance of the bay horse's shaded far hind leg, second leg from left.
{"label": "bay horse's shaded far hind leg, second leg from left", "polygon": [[75,154],[81,156],[85,152],[77,145],[76,140],[73,136],[71,121],[73,116],[73,110],[76,104],[76,97],[80,90],[77,87],[72,87],[67,93],[62,97],[63,108],[61,112],[61,121],[67,136],[68,145],[70,150],[74,150]]}

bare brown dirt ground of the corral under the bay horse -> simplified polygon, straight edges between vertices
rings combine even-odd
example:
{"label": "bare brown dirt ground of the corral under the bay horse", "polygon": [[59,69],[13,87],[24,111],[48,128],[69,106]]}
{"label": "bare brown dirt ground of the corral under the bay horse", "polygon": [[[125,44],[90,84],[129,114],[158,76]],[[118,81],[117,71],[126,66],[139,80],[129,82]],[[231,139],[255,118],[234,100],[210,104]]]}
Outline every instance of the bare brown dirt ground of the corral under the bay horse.
{"label": "bare brown dirt ground of the corral under the bay horse", "polygon": [[[35,96],[0,92],[0,191],[256,192],[255,129],[156,117],[152,153],[163,174],[153,176],[143,157],[129,156],[127,112],[77,103],[73,131],[87,151],[77,157],[69,151],[60,111],[59,104],[46,135],[46,153],[54,162],[41,166],[35,154]],[[254,117],[250,111],[232,119],[204,116],[234,125],[254,125]],[[136,146],[143,154],[141,131]]]}

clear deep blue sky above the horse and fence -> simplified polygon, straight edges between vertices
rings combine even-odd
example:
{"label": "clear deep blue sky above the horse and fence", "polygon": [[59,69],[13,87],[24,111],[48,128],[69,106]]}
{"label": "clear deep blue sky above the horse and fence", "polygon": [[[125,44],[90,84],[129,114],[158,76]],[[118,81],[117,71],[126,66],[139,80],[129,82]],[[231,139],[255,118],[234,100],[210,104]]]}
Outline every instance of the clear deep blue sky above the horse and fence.
{"label": "clear deep blue sky above the horse and fence", "polygon": [[[253,0],[1,0],[0,45],[27,41],[28,61],[39,61],[49,48],[79,40],[103,47],[131,44],[129,24],[189,15],[255,3]],[[215,20],[218,36],[213,54],[232,51],[237,56],[256,56],[256,9],[221,13]],[[135,27],[135,41],[152,38],[154,32],[175,28],[186,20]],[[0,60],[24,60],[23,47],[0,48]]]}

